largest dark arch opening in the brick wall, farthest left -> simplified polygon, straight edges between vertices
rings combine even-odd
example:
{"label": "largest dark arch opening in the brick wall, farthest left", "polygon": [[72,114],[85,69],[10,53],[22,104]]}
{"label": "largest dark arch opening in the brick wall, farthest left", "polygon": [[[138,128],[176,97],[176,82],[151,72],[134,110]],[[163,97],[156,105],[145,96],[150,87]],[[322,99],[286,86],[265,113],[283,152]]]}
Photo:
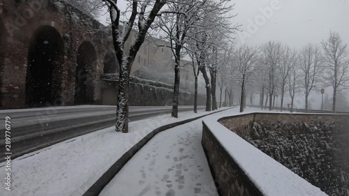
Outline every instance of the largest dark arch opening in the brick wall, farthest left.
{"label": "largest dark arch opening in the brick wall, farthest left", "polygon": [[64,62],[64,43],[51,26],[39,27],[33,34],[28,52],[26,105],[51,105],[61,82],[57,75]]}

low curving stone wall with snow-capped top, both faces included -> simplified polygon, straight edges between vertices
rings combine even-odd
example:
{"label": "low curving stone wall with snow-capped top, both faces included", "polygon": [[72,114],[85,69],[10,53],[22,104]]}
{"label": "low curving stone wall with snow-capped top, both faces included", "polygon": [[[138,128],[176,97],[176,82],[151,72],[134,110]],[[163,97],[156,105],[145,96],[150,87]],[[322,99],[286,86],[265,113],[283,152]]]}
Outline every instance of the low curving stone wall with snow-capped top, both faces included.
{"label": "low curving stone wall with snow-capped top, both faces included", "polygon": [[222,116],[203,122],[202,146],[220,195],[348,195],[348,122],[345,114]]}

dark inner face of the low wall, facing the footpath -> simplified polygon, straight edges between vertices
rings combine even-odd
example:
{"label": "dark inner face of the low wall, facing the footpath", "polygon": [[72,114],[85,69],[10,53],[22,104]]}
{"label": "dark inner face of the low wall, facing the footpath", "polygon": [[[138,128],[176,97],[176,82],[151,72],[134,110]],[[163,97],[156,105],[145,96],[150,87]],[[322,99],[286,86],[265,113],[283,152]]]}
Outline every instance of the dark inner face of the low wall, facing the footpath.
{"label": "dark inner face of the low wall, facing the footpath", "polygon": [[242,169],[235,163],[223,146],[203,125],[202,147],[211,167],[216,188],[221,196],[258,196],[262,195],[258,188],[248,179]]}

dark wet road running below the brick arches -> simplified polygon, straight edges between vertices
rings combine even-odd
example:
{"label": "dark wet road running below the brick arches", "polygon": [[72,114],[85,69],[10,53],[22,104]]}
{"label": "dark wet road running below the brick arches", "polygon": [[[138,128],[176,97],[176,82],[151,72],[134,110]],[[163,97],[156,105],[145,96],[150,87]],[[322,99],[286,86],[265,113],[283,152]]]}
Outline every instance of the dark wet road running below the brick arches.
{"label": "dark wet road running below the brick arches", "polygon": [[[202,109],[204,107],[199,107]],[[158,114],[170,114],[168,106],[131,106],[130,121],[146,119]],[[44,107],[20,110],[2,110],[0,119],[11,118],[11,141],[13,158],[77,137],[94,130],[113,126],[115,106],[79,105],[67,107]],[[179,111],[193,110],[193,106],[180,106]],[[5,123],[5,121],[3,121]],[[5,125],[0,130],[4,131]],[[0,135],[4,143],[5,135]],[[5,146],[0,146],[4,151]]]}

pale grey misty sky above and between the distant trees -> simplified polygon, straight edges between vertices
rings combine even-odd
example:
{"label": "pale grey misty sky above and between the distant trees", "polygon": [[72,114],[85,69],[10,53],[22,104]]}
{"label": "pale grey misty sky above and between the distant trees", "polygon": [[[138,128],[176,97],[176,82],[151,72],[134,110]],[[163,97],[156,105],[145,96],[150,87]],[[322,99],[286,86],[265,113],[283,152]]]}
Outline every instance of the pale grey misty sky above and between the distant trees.
{"label": "pale grey misty sky above and between the distant trees", "polygon": [[[119,1],[123,8],[123,2]],[[232,20],[242,24],[242,31],[235,34],[237,45],[262,45],[269,40],[280,41],[296,50],[301,50],[304,45],[312,43],[319,45],[322,40],[329,36],[329,31],[339,33],[343,42],[349,43],[349,1],[348,0],[237,0],[235,9],[230,15],[237,15]],[[276,7],[273,9],[272,5]],[[272,8],[272,12],[270,12]],[[110,22],[108,13],[102,14],[98,20],[103,24]],[[258,22],[256,22],[258,21]],[[256,24],[257,23],[257,24]],[[251,31],[251,29],[253,31]],[[168,78],[168,76],[163,77]],[[202,75],[199,76],[198,92],[205,94],[205,81]],[[166,83],[171,83],[166,81]],[[309,96],[309,109],[321,109],[321,93],[323,86],[317,86]],[[191,91],[191,89],[189,89]],[[239,99],[239,89],[236,89],[235,103]],[[331,110],[332,107],[332,87],[325,88],[324,110]],[[220,91],[217,88],[217,101],[219,102]],[[224,93],[223,93],[224,100]],[[253,97],[251,99],[251,97]],[[338,93],[337,105],[339,111],[349,111],[348,89]],[[258,105],[259,94],[253,96],[248,94],[247,104]],[[304,108],[304,94],[297,93],[295,97],[295,108]],[[281,100],[276,100],[276,105],[280,106]],[[285,93],[284,105],[290,103],[290,97]]]}

